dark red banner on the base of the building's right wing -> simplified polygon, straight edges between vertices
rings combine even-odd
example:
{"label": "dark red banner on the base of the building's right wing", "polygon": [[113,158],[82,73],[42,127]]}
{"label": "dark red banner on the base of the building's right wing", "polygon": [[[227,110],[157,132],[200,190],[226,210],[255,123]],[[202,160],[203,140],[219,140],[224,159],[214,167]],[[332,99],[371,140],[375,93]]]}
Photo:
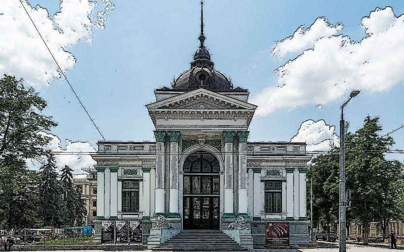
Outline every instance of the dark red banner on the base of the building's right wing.
{"label": "dark red banner on the base of the building's right wing", "polygon": [[266,222],[266,245],[289,245],[289,222]]}

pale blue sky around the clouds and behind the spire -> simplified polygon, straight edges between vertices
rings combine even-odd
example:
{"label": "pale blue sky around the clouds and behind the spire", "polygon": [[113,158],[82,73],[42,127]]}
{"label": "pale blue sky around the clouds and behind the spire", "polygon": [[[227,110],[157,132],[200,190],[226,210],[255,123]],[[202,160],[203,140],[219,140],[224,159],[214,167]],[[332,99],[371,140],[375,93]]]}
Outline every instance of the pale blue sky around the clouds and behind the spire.
{"label": "pale blue sky around the clouds and behind the spire", "polygon": [[[58,1],[29,2],[47,8],[51,15],[59,11]],[[199,42],[199,1],[112,2],[115,9],[105,29],[94,30],[92,43],[68,47],[76,63],[67,77],[107,140],[153,141],[153,125],[144,105],[154,101],[154,89],[169,86],[173,76],[189,68]],[[301,25],[311,25],[318,17],[326,17],[331,24],[342,23],[343,33],[358,40],[365,35],[359,26],[362,17],[385,6],[391,6],[397,16],[404,13],[404,2],[399,0],[206,0],[205,45],[215,67],[230,75],[235,86],[249,89],[252,97],[277,86],[273,71],[288,60],[270,55],[275,41],[291,36]],[[51,81],[40,92],[48,101],[46,113],[59,124],[53,133],[60,139],[93,144],[101,140],[63,79]],[[362,92],[345,111],[350,129],[361,126],[367,115],[380,116],[383,132],[402,125],[403,94],[403,83],[382,92]],[[321,110],[309,104],[256,118],[250,126],[250,140],[290,140],[308,119],[324,119],[338,132],[343,99],[324,104]],[[404,129],[392,136],[395,148],[404,149]]]}

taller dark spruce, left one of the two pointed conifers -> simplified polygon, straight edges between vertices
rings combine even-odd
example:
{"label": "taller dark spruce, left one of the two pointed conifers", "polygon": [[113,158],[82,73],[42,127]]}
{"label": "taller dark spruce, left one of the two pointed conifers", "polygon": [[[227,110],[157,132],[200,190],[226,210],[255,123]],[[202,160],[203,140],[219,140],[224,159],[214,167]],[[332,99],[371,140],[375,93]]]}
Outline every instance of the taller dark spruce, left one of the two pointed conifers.
{"label": "taller dark spruce, left one of the two pointed conifers", "polygon": [[48,151],[38,173],[39,209],[43,226],[58,226],[63,221],[62,188],[55,163],[54,154]]}

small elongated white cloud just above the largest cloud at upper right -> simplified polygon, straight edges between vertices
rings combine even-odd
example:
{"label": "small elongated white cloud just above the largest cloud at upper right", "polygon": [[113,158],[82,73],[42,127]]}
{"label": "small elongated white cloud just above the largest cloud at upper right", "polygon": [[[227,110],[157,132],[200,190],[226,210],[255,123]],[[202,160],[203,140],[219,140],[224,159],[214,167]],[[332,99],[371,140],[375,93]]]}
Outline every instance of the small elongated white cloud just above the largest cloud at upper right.
{"label": "small elongated white cloud just above the largest cloud at upper right", "polygon": [[309,28],[301,26],[292,36],[275,42],[271,54],[276,57],[284,57],[290,53],[300,53],[313,47],[318,39],[336,35],[342,28],[342,24],[333,26],[326,18],[317,18]]}

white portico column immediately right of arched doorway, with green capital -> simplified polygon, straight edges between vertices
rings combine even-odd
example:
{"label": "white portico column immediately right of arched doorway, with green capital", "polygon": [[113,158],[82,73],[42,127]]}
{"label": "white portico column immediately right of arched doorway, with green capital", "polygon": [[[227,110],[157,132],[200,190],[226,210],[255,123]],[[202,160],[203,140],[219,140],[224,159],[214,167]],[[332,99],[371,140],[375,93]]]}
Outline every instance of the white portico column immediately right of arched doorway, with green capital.
{"label": "white portico column immediately right of arched doorway, with green capital", "polygon": [[233,208],[233,140],[235,131],[223,131],[225,143],[225,213],[224,217],[234,217]]}

